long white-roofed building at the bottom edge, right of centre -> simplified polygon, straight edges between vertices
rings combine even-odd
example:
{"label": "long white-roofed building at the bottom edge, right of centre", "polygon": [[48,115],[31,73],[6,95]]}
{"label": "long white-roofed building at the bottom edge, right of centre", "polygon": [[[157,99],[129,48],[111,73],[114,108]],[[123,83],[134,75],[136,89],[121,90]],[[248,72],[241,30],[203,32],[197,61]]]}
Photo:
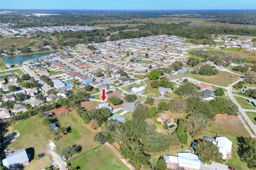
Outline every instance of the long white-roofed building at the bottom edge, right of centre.
{"label": "long white-roofed building at the bottom edge, right of centre", "polygon": [[200,169],[201,160],[190,152],[179,152],[177,156],[165,155],[165,163],[169,169]]}

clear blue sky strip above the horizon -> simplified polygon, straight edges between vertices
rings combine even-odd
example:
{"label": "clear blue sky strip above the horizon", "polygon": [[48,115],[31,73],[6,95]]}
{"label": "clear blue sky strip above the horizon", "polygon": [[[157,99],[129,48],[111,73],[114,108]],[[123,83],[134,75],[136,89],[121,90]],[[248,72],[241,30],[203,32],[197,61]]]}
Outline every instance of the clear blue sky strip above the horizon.
{"label": "clear blue sky strip above the horizon", "polygon": [[256,0],[0,0],[0,9],[234,10],[256,9]]}

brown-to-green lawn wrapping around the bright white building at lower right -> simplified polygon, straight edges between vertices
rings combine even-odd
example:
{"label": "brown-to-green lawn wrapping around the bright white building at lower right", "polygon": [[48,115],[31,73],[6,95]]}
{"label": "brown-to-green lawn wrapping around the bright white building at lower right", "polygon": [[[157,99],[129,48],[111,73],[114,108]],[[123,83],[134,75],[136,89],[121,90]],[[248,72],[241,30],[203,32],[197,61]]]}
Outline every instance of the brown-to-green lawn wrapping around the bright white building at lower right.
{"label": "brown-to-green lawn wrapping around the bright white building at lower right", "polygon": [[234,167],[238,170],[249,169],[246,163],[241,162],[237,154],[237,137],[249,137],[249,133],[244,128],[243,124],[239,120],[237,116],[228,116],[218,114],[212,125],[205,130],[205,132],[201,135],[207,135],[210,137],[226,137],[233,142],[232,144],[232,153],[231,158],[228,159],[227,165]]}

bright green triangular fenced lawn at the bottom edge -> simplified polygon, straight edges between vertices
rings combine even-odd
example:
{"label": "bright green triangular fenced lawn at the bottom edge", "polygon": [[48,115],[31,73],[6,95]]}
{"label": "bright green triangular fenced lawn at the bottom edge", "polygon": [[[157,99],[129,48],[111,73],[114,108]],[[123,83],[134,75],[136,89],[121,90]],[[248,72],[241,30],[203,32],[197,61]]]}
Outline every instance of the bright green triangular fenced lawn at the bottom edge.
{"label": "bright green triangular fenced lawn at the bottom edge", "polygon": [[128,169],[121,160],[111,151],[107,146],[103,145],[99,152],[91,152],[85,156],[82,156],[73,162],[71,162],[71,167],[76,169],[98,169],[98,170],[126,170]]}

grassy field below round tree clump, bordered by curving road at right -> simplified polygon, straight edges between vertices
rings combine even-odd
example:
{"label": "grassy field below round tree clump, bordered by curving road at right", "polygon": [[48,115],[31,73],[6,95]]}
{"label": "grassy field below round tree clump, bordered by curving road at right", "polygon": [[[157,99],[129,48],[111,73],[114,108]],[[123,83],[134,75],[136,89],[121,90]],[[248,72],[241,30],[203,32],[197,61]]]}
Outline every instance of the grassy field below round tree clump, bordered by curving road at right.
{"label": "grassy field below round tree clump, bordered by curving road at right", "polygon": [[187,74],[180,74],[180,75],[182,77],[190,77],[199,81],[212,83],[218,86],[228,86],[228,84],[231,84],[232,82],[239,79],[238,75],[234,75],[228,72],[221,72],[221,71],[219,71],[217,75],[211,75],[211,76],[193,74],[191,72],[188,72]]}

